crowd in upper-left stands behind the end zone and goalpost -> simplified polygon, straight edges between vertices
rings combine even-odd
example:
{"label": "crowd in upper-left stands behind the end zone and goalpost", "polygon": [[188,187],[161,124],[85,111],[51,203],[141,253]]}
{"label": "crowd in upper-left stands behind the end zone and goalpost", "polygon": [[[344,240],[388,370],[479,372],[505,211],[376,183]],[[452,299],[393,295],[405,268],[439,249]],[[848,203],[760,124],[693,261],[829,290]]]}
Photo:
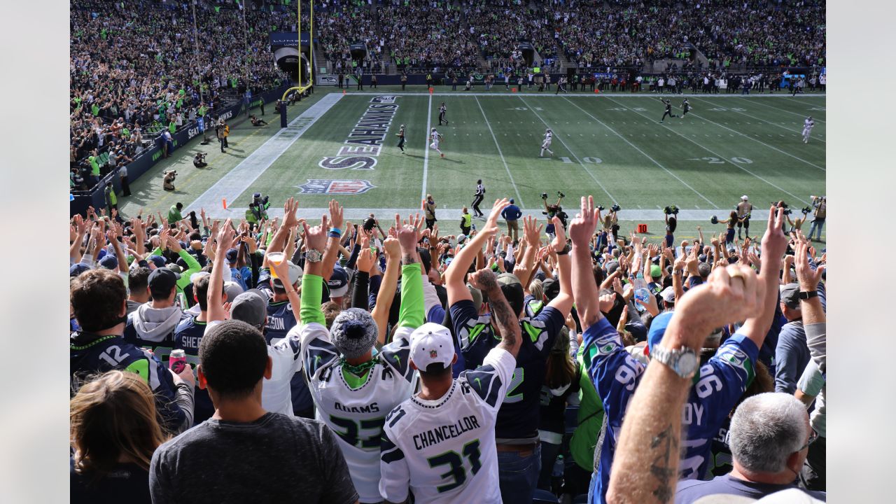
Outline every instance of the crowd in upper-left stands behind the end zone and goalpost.
{"label": "crowd in upper-left stands behind the end zone and goalpost", "polygon": [[[280,83],[284,75],[274,65],[268,32],[289,30],[289,18],[273,10],[243,13],[241,6],[197,1],[196,40],[190,3],[72,2],[73,187],[92,187],[160,132],[204,116],[226,90],[264,91]],[[74,184],[76,178],[83,182]]]}

